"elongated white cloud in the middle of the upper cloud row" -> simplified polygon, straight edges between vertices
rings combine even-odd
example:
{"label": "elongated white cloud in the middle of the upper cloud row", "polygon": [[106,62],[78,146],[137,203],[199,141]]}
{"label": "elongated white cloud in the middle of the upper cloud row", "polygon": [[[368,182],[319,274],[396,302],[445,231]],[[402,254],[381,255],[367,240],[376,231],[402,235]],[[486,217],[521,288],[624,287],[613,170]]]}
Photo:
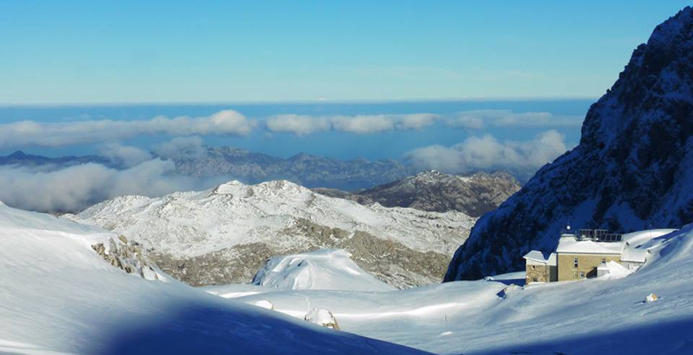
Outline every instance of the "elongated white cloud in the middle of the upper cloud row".
{"label": "elongated white cloud in the middle of the upper cloud row", "polygon": [[439,119],[437,114],[360,114],[354,116],[309,116],[282,114],[267,120],[267,130],[306,136],[316,131],[337,130],[372,134],[390,130],[421,130]]}

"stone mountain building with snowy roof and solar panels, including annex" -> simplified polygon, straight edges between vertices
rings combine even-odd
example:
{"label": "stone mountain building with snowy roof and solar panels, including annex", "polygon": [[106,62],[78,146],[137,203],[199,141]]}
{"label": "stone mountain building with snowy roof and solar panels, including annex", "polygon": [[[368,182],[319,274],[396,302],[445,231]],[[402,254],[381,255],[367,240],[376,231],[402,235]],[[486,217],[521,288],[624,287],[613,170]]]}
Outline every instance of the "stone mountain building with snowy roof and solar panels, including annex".
{"label": "stone mountain building with snowy roof and solar panels, including annex", "polygon": [[635,270],[647,262],[649,241],[674,231],[656,229],[617,234],[601,229],[580,229],[578,233],[571,233],[569,227],[561,234],[555,252],[548,257],[538,250],[523,256],[525,284],[603,276],[609,273],[607,264],[611,262]]}

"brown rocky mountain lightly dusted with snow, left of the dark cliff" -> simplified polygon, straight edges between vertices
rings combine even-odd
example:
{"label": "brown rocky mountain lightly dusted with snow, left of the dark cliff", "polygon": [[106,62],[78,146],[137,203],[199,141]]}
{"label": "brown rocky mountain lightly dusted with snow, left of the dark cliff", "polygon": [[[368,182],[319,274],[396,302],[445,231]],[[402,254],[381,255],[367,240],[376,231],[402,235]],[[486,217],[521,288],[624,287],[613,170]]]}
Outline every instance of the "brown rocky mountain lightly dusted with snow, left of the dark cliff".
{"label": "brown rocky mountain lightly dusted with snow, left of the dark cliff", "polygon": [[315,188],[314,191],[362,204],[378,202],[386,207],[411,207],[434,212],[457,210],[480,217],[496,209],[521,187],[516,178],[500,171],[458,176],[430,170],[357,193],[325,188]]}

